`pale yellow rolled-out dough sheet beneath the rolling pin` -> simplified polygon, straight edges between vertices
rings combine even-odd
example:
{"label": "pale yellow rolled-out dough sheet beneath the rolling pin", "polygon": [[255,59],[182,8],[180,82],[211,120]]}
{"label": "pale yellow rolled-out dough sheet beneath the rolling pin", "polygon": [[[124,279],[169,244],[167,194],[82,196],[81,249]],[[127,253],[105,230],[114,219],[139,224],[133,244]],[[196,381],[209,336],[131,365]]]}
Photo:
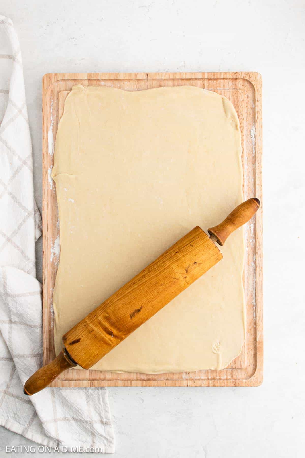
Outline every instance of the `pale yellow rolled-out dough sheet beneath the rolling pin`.
{"label": "pale yellow rolled-out dough sheet beneath the rolling pin", "polygon": [[[60,221],[53,295],[62,335],[189,230],[207,230],[243,200],[233,105],[198,87],[128,92],[73,87],[52,176]],[[126,338],[93,369],[146,373],[222,369],[245,337],[244,243]]]}

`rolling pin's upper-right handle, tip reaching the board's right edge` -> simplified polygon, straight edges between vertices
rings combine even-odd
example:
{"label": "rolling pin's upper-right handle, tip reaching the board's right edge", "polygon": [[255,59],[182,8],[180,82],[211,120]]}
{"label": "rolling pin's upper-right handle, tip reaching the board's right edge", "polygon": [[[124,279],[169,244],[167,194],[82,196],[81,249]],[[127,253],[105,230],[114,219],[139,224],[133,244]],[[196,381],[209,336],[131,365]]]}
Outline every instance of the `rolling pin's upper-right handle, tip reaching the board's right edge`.
{"label": "rolling pin's upper-right handle, tip reaching the board's right edge", "polygon": [[255,215],[260,205],[261,202],[256,197],[241,203],[222,223],[208,229],[211,239],[216,241],[219,245],[224,245],[229,235],[232,234],[235,229],[246,224],[247,221]]}

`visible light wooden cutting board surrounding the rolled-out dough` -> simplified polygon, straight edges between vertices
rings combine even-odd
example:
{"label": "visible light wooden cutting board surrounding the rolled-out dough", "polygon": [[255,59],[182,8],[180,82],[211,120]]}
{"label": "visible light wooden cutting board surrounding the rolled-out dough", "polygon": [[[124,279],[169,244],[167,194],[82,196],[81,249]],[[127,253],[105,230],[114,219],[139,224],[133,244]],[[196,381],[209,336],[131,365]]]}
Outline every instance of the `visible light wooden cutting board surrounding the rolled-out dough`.
{"label": "visible light wooden cutting board surrounding the rolled-out dough", "polygon": [[[54,357],[52,296],[58,267],[59,222],[50,178],[53,148],[64,100],[75,84],[140,91],[162,86],[198,86],[227,97],[241,123],[244,198],[262,202],[262,79],[255,72],[230,73],[48,73],[43,77],[43,364]],[[245,226],[246,339],[241,354],[221,371],[166,374],[70,369],[53,387],[258,386],[262,383],[262,207]]]}

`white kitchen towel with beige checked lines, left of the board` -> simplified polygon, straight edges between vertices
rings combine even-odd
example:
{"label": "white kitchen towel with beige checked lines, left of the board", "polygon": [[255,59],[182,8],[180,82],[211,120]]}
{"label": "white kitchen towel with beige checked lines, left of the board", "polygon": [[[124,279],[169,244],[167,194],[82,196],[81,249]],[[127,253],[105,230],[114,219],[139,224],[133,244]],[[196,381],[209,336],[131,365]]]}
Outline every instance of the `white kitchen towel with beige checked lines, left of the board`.
{"label": "white kitchen towel with beige checked lines, left of the board", "polygon": [[59,450],[114,453],[106,388],[23,394],[42,365],[40,234],[20,47],[11,20],[0,15],[0,425]]}

